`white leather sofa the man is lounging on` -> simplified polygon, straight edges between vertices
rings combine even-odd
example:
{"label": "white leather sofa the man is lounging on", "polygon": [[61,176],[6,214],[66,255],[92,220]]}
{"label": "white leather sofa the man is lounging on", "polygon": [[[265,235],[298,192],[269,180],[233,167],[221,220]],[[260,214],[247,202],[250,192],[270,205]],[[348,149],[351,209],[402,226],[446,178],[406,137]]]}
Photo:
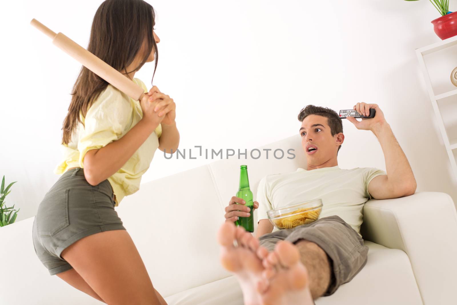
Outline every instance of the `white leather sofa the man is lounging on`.
{"label": "white leather sofa the man is lounging on", "polygon": [[[304,167],[299,136],[263,148],[295,149],[296,158],[232,158],[141,185],[117,212],[154,287],[169,305],[242,305],[239,285],[219,263],[216,232],[247,164],[254,195],[266,174]],[[249,154],[248,154],[249,156]],[[154,163],[150,170],[154,170]],[[366,266],[325,304],[457,304],[457,215],[445,193],[420,192],[364,207]],[[256,221],[255,221],[256,222]],[[2,305],[102,304],[50,276],[32,244],[33,217],[0,228]],[[116,266],[113,266],[116,268]]]}

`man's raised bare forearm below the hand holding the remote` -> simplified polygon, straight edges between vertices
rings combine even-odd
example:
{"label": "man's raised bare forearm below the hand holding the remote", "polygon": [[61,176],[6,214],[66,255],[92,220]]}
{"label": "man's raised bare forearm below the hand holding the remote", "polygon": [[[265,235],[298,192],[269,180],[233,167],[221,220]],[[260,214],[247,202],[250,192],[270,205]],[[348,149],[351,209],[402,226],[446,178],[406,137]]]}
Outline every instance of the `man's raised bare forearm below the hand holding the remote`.
{"label": "man's raised bare forearm below the hand holding the remote", "polygon": [[399,142],[397,142],[397,139],[393,135],[390,125],[388,123],[383,123],[374,127],[372,131],[383,149],[388,181],[391,182],[394,187],[411,188],[415,190],[417,184],[413,170],[411,169]]}

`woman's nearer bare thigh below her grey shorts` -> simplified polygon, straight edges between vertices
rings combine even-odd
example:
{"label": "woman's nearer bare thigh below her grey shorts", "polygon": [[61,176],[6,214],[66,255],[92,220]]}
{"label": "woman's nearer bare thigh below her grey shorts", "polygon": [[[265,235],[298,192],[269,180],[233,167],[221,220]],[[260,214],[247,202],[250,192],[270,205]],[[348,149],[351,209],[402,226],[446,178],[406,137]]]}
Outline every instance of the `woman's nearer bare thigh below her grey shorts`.
{"label": "woman's nearer bare thigh below her grey shorts", "polygon": [[61,256],[109,305],[166,305],[156,294],[126,230],[84,237],[67,247]]}

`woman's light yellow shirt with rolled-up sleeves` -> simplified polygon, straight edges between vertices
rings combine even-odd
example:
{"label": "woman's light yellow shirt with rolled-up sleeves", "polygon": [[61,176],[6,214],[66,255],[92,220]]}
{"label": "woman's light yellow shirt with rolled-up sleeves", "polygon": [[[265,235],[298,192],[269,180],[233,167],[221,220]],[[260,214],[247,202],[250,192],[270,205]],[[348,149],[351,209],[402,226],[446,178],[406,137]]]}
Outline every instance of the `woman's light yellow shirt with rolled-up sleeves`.
{"label": "woman's light yellow shirt with rolled-up sleeves", "polygon": [[[140,79],[133,79],[147,93],[146,85]],[[91,149],[99,149],[123,137],[143,117],[143,110],[138,100],[133,100],[118,89],[108,84],[98,98],[90,105],[85,118],[80,112],[83,126],[78,122],[71,141],[62,144],[63,161],[54,169],[54,174],[64,174],[69,168],[84,168],[84,156]],[[116,205],[121,200],[139,189],[141,176],[148,170],[159,147],[162,126],[159,124],[146,141],[133,153],[115,174],[108,178]]]}

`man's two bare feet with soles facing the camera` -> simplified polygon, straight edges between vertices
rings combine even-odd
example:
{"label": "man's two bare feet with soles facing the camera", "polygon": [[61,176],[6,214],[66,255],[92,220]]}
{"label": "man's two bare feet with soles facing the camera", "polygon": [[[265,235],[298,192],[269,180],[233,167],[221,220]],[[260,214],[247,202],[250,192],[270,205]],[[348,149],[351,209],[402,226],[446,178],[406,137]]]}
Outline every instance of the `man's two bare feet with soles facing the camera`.
{"label": "man's two bare feet with soles facing the camera", "polygon": [[298,249],[291,243],[278,243],[275,251],[268,253],[257,238],[231,222],[220,227],[218,242],[222,265],[235,273],[245,305],[314,304],[308,273],[300,262]]}

